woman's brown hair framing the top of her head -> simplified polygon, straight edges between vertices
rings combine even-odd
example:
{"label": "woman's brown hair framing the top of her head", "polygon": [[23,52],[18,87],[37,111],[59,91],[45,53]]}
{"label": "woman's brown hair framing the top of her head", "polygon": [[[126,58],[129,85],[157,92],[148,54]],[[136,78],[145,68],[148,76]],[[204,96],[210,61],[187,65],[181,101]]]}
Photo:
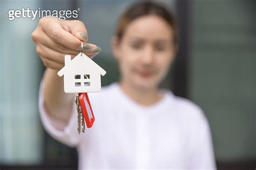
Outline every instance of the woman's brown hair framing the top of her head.
{"label": "woman's brown hair framing the top of her head", "polygon": [[139,1],[132,4],[120,17],[117,28],[116,36],[120,40],[124,35],[125,28],[131,21],[136,18],[146,16],[146,15],[157,15],[164,19],[173,30],[173,40],[174,43],[178,43],[178,26],[176,20],[174,19],[172,13],[165,8],[165,6],[154,3],[152,1]]}

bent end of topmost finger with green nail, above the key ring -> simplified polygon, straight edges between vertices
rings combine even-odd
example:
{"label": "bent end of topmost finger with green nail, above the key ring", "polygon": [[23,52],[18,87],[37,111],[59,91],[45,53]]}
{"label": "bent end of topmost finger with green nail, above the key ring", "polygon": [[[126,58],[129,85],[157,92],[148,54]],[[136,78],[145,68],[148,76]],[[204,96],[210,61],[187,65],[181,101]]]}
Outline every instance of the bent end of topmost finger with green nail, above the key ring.
{"label": "bent end of topmost finger with green nail, above the key ring", "polygon": [[85,28],[85,25],[82,21],[79,20],[71,20],[68,23],[70,32],[73,36],[80,39],[82,42],[87,42],[88,34]]}

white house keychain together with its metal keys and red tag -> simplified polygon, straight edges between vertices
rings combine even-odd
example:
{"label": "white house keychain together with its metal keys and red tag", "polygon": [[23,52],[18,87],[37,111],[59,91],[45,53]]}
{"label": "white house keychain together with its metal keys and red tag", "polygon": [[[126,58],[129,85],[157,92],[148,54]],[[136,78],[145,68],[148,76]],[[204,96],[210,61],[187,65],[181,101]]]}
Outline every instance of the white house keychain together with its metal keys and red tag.
{"label": "white house keychain together with its metal keys and red tag", "polygon": [[[82,50],[72,60],[70,55],[66,55],[65,66],[57,74],[59,77],[64,75],[66,93],[78,93],[78,98],[75,97],[78,111],[78,133],[80,133],[80,120],[83,122],[85,119],[86,126],[92,127],[95,118],[87,92],[100,91],[102,88],[100,76],[104,76],[106,71],[87,57]],[[84,132],[84,123],[82,123],[82,130]]]}

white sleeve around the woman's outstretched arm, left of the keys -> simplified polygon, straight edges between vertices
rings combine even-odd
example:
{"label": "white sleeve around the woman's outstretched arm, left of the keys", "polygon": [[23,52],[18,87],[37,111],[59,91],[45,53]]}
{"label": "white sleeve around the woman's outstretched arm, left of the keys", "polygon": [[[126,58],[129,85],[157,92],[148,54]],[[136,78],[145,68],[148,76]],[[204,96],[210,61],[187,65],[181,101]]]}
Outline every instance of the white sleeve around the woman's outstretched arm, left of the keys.
{"label": "white sleeve around the woman's outstretched arm, left of the keys", "polygon": [[39,99],[38,107],[39,114],[42,120],[43,127],[45,131],[48,132],[52,138],[63,142],[65,145],[74,147],[79,143],[79,135],[77,133],[77,114],[76,114],[76,105],[75,102],[72,108],[72,115],[68,125],[63,125],[60,121],[53,119],[50,114],[46,111],[44,106],[44,81],[41,81],[39,88]]}

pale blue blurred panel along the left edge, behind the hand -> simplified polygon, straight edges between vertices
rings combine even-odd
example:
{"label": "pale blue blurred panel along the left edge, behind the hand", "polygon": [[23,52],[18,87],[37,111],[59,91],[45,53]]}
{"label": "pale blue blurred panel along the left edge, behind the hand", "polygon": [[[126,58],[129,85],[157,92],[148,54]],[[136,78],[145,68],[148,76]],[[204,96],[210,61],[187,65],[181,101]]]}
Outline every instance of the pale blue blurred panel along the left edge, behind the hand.
{"label": "pale blue blurred panel along the left edge, behind the hand", "polygon": [[8,10],[39,1],[0,1],[0,164],[40,164],[43,130],[37,93],[43,66],[30,34],[37,21],[8,20]]}

